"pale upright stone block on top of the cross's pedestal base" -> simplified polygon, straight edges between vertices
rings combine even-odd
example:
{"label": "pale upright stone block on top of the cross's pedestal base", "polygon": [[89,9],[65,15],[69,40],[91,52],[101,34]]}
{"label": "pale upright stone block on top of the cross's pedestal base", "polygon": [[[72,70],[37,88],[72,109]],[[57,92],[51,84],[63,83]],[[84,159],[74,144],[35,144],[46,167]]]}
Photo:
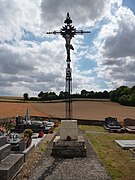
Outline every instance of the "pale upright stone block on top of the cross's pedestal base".
{"label": "pale upright stone block on top of the cross's pedestal base", "polygon": [[60,139],[67,140],[70,137],[71,140],[78,139],[78,127],[76,120],[62,120],[60,127]]}

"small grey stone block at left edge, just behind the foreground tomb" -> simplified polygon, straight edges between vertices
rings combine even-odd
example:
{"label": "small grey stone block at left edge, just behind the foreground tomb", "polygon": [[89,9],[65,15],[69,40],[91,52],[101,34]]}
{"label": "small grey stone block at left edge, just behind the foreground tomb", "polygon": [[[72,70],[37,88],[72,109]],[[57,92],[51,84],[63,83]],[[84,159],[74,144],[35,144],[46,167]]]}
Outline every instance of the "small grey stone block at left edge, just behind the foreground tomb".
{"label": "small grey stone block at left edge, just behind the foreground tomb", "polygon": [[0,147],[0,161],[10,154],[11,145],[5,144]]}

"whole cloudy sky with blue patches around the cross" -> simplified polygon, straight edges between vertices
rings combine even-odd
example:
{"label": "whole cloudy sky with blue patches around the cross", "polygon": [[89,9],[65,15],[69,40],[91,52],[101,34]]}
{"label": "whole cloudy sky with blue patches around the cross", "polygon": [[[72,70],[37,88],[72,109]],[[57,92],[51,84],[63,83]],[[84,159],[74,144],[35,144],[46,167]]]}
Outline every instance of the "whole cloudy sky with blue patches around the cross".
{"label": "whole cloudy sky with blue patches around the cross", "polygon": [[67,12],[76,29],[73,93],[135,85],[134,0],[0,0],[0,96],[65,90]]}

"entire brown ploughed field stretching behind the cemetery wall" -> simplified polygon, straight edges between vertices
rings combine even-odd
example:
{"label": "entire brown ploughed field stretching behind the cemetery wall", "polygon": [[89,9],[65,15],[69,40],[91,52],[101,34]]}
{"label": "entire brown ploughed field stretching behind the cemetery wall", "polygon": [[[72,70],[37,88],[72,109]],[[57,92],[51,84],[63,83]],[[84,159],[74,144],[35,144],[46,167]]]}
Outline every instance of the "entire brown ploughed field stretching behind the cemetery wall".
{"label": "entire brown ploughed field stretching behind the cemetery wall", "polygon": [[[29,107],[31,116],[65,117],[65,103],[7,103],[0,102],[0,117],[25,116]],[[135,119],[135,107],[121,106],[114,102],[74,101],[73,118],[104,120],[113,116],[122,121],[125,118]]]}

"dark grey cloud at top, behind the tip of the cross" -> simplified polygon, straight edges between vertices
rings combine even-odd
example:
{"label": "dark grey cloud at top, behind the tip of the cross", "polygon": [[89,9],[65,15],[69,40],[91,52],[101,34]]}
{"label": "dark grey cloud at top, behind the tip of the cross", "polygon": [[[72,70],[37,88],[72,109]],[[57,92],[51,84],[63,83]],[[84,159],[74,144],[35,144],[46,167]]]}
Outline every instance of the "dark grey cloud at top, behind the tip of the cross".
{"label": "dark grey cloud at top, behind the tip of the cross", "polygon": [[91,26],[96,20],[107,16],[110,5],[109,0],[42,0],[42,25],[45,31],[61,28],[69,12],[75,26]]}

